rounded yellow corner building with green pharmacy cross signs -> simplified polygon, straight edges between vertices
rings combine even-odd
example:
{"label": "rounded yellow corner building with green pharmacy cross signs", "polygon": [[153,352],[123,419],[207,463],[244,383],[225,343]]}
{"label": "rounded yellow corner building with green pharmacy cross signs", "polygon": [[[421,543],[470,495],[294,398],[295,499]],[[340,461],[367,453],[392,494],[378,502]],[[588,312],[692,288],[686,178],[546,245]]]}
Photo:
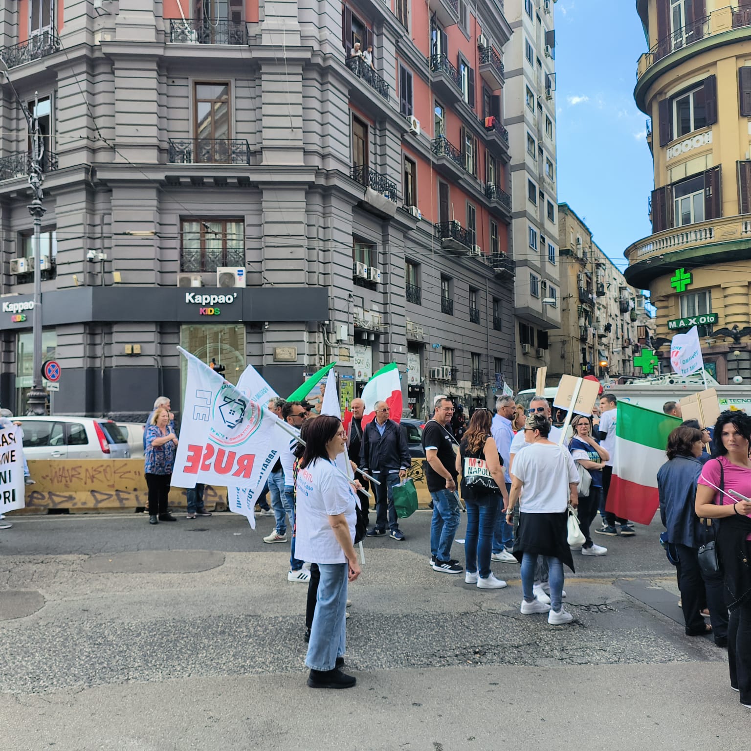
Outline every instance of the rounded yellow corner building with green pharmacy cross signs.
{"label": "rounded yellow corner building with green pharmacy cross signs", "polygon": [[748,379],[751,3],[639,0],[637,11],[650,49],[634,97],[653,123],[655,189],[653,234],[626,250],[626,279],[649,288],[657,336],[697,324],[716,379]]}

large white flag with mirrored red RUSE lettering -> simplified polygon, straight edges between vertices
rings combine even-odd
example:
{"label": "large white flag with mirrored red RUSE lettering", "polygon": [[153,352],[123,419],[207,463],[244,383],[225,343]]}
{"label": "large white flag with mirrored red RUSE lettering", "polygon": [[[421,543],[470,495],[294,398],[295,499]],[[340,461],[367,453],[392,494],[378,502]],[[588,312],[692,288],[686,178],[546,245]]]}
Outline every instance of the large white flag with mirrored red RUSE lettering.
{"label": "large white flag with mirrored red RUSE lettering", "polygon": [[[286,433],[276,428],[276,415],[197,357],[178,349],[188,360],[188,379],[172,484],[195,487],[203,482],[245,489],[262,485],[280,449],[289,441]],[[232,511],[253,523],[247,493],[245,499],[229,501]]]}

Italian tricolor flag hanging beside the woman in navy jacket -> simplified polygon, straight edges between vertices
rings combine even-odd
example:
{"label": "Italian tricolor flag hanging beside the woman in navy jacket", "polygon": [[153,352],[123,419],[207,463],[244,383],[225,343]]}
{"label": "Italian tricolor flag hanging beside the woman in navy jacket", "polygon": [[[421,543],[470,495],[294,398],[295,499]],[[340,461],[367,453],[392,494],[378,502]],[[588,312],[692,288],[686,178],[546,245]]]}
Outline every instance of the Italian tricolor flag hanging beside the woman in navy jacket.
{"label": "Italian tricolor flag hanging beside the woman in navy jacket", "polygon": [[668,436],[679,425],[672,415],[618,403],[607,511],[640,524],[651,523],[659,508],[657,470],[667,461]]}

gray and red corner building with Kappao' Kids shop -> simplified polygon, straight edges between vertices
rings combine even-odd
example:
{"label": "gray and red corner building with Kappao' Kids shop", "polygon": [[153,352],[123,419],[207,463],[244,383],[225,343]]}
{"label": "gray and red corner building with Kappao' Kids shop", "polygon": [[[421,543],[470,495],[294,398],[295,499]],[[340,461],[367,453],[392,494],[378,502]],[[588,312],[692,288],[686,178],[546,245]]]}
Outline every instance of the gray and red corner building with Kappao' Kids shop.
{"label": "gray and red corner building with Kappao' Kids shop", "polygon": [[32,382],[8,79],[44,134],[55,412],[176,406],[177,345],[281,394],[331,360],[354,391],[396,361],[418,415],[439,393],[488,403],[514,377],[509,35],[463,0],[3,2],[0,403],[23,412]]}

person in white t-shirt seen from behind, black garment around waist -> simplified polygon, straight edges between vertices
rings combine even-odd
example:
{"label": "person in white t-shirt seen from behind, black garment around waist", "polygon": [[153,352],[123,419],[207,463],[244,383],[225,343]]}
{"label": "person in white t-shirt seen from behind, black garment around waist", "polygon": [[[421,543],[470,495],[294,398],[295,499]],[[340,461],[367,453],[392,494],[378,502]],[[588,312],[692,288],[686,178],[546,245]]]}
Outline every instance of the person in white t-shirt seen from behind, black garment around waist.
{"label": "person in white t-shirt seen from behind, black garment around waist", "polygon": [[[524,427],[524,451],[511,465],[508,519],[519,501],[519,529],[514,556],[521,563],[524,598],[521,612],[547,613],[547,623],[559,625],[574,620],[562,606],[563,564],[574,570],[566,534],[569,503],[579,504],[579,473],[566,448],[547,440],[550,421],[546,415],[529,415]],[[533,590],[537,556],[544,556],[550,571],[550,605],[540,602]]]}

